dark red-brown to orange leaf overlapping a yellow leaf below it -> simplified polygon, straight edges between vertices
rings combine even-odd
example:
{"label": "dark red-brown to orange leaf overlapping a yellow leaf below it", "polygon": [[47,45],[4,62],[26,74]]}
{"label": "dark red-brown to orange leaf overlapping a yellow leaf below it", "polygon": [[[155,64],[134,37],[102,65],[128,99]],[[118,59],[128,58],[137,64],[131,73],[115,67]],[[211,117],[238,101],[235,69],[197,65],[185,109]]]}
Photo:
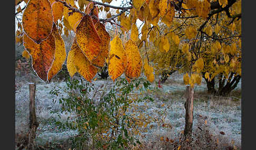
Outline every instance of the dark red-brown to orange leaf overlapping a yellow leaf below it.
{"label": "dark red-brown to orange leaf overlapping a yellow leaf below it", "polygon": [[100,55],[102,40],[89,15],[84,15],[76,27],[76,42],[90,62]]}

